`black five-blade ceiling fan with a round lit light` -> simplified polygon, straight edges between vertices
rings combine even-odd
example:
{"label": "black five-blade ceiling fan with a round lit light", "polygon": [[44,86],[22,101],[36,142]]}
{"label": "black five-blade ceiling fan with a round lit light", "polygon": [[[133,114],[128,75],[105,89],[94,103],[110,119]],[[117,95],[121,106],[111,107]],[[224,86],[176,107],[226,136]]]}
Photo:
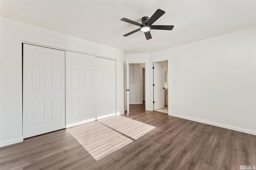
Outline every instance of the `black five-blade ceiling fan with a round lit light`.
{"label": "black five-blade ceiling fan with a round lit light", "polygon": [[152,38],[152,36],[150,34],[150,29],[172,30],[174,25],[152,25],[156,20],[158,20],[158,18],[160,18],[162,15],[164,15],[164,13],[165,12],[163,10],[158,9],[150,18],[142,17],[141,23],[129,20],[127,18],[122,18],[121,21],[140,26],[140,28],[135,29],[134,31],[132,31],[130,33],[124,34],[123,36],[126,37],[128,35],[138,32],[138,31],[142,31],[145,33],[146,39],[148,40],[148,39]]}

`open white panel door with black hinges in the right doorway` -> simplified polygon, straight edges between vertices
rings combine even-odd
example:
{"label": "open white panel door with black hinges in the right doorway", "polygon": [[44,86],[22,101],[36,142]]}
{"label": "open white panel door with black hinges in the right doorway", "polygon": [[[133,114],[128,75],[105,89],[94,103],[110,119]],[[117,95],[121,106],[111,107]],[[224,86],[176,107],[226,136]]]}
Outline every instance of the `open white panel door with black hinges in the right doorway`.
{"label": "open white panel door with black hinges in the right doorway", "polygon": [[154,63],[154,110],[164,108],[164,64]]}

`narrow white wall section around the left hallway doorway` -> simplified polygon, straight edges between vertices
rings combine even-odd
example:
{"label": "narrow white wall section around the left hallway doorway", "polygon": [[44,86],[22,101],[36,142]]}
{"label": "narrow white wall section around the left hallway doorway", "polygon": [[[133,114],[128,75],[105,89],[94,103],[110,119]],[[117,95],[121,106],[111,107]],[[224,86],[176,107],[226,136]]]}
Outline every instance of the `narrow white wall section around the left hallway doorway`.
{"label": "narrow white wall section around the left hallway doorway", "polygon": [[[149,80],[149,55],[148,54],[124,54],[124,89],[127,89],[127,68],[126,61],[128,59],[129,63],[145,63],[145,87],[146,87],[146,110],[150,110],[150,80]],[[153,101],[153,100],[152,100]],[[126,91],[124,91],[124,108],[127,109],[127,96]]]}

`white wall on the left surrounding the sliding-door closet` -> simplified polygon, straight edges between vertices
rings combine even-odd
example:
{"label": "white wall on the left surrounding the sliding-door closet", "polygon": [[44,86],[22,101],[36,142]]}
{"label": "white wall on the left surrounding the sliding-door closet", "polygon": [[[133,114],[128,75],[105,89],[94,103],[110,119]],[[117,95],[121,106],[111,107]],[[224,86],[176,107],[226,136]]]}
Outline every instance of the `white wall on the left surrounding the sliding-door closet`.
{"label": "white wall on the left surrounding the sliding-door closet", "polygon": [[124,113],[122,50],[0,17],[0,147],[23,141],[22,41],[116,59],[117,111]]}

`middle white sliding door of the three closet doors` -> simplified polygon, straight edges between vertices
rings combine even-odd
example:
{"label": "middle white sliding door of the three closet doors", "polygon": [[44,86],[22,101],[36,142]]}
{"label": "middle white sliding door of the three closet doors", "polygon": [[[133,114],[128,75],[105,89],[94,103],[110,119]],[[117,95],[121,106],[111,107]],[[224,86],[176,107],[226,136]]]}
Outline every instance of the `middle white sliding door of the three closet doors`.
{"label": "middle white sliding door of the three closet doors", "polygon": [[66,52],[66,127],[95,120],[96,57]]}

